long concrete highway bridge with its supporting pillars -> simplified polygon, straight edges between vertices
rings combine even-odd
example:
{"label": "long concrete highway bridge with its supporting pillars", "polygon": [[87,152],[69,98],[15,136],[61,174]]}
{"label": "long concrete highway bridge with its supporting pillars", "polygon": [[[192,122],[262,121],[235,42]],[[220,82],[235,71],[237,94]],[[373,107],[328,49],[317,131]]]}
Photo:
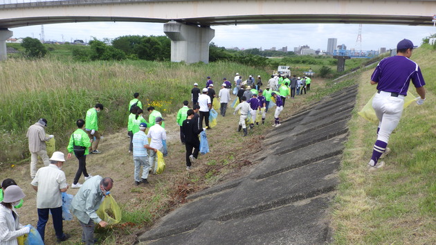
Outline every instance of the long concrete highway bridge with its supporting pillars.
{"label": "long concrete highway bridge with its supporting pillars", "polygon": [[435,0],[0,0],[0,60],[8,28],[95,21],[163,23],[174,62],[208,62],[211,26],[237,24],[433,25]]}

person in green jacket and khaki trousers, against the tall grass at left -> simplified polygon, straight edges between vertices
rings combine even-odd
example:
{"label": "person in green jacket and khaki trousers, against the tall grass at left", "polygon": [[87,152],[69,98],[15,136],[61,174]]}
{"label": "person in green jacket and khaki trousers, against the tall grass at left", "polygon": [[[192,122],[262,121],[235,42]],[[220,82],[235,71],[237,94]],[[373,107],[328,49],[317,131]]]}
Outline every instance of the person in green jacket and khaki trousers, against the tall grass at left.
{"label": "person in green jacket and khaki trousers, against the tall grass at left", "polygon": [[90,152],[93,154],[99,154],[101,153],[98,150],[98,143],[100,143],[100,132],[98,131],[98,116],[97,114],[102,111],[103,105],[100,103],[97,103],[95,107],[89,109],[87,111],[87,117],[85,118],[85,131],[87,131],[87,134],[89,138],[92,138],[93,143],[90,147]]}

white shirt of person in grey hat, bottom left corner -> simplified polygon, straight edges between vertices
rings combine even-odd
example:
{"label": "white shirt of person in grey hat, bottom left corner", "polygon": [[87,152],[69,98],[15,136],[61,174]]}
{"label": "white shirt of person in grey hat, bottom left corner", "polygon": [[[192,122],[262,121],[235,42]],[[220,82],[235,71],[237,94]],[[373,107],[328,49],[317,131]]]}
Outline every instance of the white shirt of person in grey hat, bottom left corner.
{"label": "white shirt of person in grey hat, bottom left corner", "polygon": [[[15,209],[12,208],[12,210]],[[0,244],[1,245],[18,245],[17,237],[27,234],[28,228],[19,224],[17,219],[12,216],[12,210],[0,204]]]}

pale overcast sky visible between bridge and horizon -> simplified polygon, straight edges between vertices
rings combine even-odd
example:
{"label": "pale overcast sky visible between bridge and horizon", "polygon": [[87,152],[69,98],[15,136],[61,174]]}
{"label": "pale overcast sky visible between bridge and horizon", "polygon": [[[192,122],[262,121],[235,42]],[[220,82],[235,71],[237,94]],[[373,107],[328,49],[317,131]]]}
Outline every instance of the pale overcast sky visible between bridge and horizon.
{"label": "pale overcast sky visible between bridge and horizon", "polygon": [[[226,48],[282,48],[309,45],[313,49],[325,51],[327,39],[337,38],[338,45],[345,44],[347,49],[356,46],[358,24],[263,24],[238,26],[212,26],[217,46]],[[41,26],[11,28],[13,37],[35,37],[39,39]],[[404,38],[419,46],[421,40],[433,33],[433,26],[397,26],[366,25],[362,28],[362,50],[379,50],[381,47],[396,48]],[[63,35],[63,37],[62,37]],[[74,39],[89,41],[115,38],[123,35],[165,35],[163,24],[134,22],[88,22],[44,25],[45,40],[71,42]],[[357,47],[358,48],[358,47]],[[358,48],[359,49],[359,48]]]}

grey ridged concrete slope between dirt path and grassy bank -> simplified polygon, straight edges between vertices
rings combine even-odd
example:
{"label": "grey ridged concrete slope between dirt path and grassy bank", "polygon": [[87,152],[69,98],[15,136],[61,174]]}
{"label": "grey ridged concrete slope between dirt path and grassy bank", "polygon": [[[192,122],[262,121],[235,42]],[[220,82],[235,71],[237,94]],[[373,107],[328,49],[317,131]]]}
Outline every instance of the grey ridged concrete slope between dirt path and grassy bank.
{"label": "grey ridged concrete slope between dirt path and grassy bank", "polygon": [[327,208],[356,89],[327,96],[270,131],[247,176],[190,195],[140,235],[140,244],[330,242]]}

